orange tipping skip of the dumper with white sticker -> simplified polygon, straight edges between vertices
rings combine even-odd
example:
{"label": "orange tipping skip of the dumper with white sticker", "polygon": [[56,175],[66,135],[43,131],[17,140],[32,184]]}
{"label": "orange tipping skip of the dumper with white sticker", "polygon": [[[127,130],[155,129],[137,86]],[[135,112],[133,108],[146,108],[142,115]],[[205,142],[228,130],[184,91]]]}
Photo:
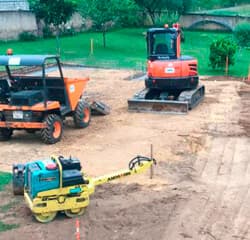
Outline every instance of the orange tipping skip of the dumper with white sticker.
{"label": "orange tipping skip of the dumper with white sticker", "polygon": [[64,78],[66,91],[69,96],[69,103],[72,110],[75,110],[79,98],[86,88],[88,77],[85,78]]}

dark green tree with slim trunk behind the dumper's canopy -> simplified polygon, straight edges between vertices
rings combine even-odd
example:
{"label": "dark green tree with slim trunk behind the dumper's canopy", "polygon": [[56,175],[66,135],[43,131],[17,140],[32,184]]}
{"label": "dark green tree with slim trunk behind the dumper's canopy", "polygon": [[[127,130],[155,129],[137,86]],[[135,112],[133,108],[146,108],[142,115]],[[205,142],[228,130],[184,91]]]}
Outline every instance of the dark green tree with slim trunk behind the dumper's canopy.
{"label": "dark green tree with slim trunk behind the dumper's canopy", "polygon": [[30,7],[39,20],[43,20],[46,25],[53,24],[56,28],[57,51],[60,55],[60,25],[70,19],[76,10],[77,2],[69,0],[30,0]]}

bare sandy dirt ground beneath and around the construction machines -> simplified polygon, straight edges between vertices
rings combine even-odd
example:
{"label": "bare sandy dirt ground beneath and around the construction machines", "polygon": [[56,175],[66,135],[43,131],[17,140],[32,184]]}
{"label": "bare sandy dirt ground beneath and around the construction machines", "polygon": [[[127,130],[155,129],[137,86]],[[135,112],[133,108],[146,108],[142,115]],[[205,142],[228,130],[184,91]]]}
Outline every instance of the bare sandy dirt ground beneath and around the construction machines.
{"label": "bare sandy dirt ground beneath and around the construction machines", "polygon": [[[135,155],[149,155],[157,166],[96,189],[80,217],[85,240],[244,240],[250,239],[250,85],[239,79],[203,78],[205,100],[187,115],[129,113],[127,99],[143,87],[133,71],[86,69],[86,94],[112,112],[93,117],[76,130],[65,122],[62,141],[45,145],[39,135],[17,132],[0,145],[0,169],[51,154],[75,156],[90,176],[121,168]],[[0,221],[19,224],[0,239],[75,239],[75,219],[59,214],[37,223],[11,186],[0,193]]]}

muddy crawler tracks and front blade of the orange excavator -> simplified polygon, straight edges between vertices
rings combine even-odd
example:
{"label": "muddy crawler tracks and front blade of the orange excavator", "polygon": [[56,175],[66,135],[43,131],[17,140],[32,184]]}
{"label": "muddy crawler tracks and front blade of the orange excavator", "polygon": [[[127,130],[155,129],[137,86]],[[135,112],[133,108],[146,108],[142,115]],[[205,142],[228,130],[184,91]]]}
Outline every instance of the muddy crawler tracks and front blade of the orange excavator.
{"label": "muddy crawler tracks and front blade of the orange excavator", "polygon": [[162,114],[186,114],[203,99],[205,95],[204,85],[194,90],[183,91],[177,100],[146,99],[149,89],[143,89],[128,100],[130,112],[153,112]]}

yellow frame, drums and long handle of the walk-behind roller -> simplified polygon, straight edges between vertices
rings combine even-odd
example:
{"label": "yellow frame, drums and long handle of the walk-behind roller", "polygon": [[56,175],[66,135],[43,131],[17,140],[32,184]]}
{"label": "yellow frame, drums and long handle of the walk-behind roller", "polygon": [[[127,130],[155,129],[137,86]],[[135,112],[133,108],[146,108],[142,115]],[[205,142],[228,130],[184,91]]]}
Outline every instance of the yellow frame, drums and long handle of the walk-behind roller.
{"label": "yellow frame, drums and long handle of the walk-behind roller", "polygon": [[24,198],[37,221],[47,223],[52,221],[59,211],[64,211],[68,217],[82,215],[89,205],[89,197],[95,192],[95,187],[112,180],[142,173],[155,163],[153,158],[137,156],[131,160],[128,169],[120,170],[101,177],[85,177],[86,184],[78,184],[68,187],[62,186],[62,165],[59,159],[52,156],[60,174],[60,186],[57,189],[43,191],[31,199],[28,189],[24,188]]}

